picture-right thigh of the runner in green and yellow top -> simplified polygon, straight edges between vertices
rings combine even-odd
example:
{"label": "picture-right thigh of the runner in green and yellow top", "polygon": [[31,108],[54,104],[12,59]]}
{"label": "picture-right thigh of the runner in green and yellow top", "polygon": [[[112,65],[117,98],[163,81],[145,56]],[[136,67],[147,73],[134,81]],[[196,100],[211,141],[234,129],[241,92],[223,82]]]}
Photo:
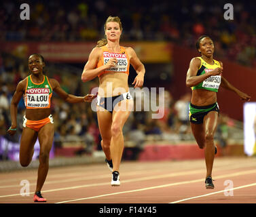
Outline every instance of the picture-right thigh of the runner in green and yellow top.
{"label": "picture-right thigh of the runner in green and yellow top", "polygon": [[219,114],[216,111],[210,111],[204,117],[205,134],[213,135],[217,129]]}

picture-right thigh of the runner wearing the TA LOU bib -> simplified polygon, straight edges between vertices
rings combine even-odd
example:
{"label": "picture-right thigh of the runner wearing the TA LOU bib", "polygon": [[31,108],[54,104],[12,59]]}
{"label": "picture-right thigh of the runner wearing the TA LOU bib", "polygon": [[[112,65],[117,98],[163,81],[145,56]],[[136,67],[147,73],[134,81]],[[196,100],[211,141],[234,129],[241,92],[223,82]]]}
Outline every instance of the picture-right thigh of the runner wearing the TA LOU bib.
{"label": "picture-right thigh of the runner wearing the TA LOU bib", "polygon": [[50,153],[52,149],[52,142],[54,140],[54,124],[47,123],[41,127],[38,132],[38,140],[40,144],[40,151],[47,151]]}

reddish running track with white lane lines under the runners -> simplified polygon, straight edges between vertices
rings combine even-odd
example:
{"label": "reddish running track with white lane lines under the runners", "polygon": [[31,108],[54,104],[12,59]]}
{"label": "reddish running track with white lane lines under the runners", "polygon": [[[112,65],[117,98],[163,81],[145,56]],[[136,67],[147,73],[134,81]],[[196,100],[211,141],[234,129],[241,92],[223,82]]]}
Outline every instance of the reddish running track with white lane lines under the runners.
{"label": "reddish running track with white lane lines under the runners", "polygon": [[[122,161],[120,186],[107,165],[53,167],[41,191],[47,203],[256,203],[256,158],[217,157],[215,189],[205,189],[204,159]],[[22,185],[29,183],[29,196]],[[37,170],[0,174],[0,203],[34,203]],[[28,189],[27,189],[28,190]]]}

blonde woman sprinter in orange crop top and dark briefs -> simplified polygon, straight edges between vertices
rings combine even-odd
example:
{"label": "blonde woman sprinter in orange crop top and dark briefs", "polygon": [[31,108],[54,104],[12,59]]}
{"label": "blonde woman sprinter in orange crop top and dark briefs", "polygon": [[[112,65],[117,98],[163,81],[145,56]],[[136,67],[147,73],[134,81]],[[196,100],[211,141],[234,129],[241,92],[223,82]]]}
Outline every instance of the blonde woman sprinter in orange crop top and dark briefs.
{"label": "blonde woman sprinter in orange crop top and dark briefs", "polygon": [[128,87],[129,67],[137,76],[132,84],[142,87],[145,67],[132,47],[120,46],[122,24],[120,18],[109,16],[105,22],[106,39],[101,39],[84,66],[81,80],[98,77],[97,117],[101,146],[112,172],[112,186],[120,185],[120,162],[124,150],[122,129],[132,111],[133,100]]}

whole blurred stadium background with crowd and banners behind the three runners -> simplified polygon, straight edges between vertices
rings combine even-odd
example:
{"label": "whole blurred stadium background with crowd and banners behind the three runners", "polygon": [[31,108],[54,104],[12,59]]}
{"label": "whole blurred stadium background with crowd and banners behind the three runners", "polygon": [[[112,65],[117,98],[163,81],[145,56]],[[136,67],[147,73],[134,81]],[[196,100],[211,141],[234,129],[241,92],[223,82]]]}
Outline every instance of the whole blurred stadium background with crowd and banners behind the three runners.
{"label": "whole blurred stadium background with crowd and banners behind the three runners", "polygon": [[[20,5],[30,6],[30,20],[20,19]],[[215,56],[223,62],[223,75],[256,101],[256,4],[229,1],[234,20],[225,20],[225,1],[1,1],[0,8],[0,171],[18,169],[24,102],[18,106],[18,132],[10,127],[10,101],[19,81],[28,75],[27,58],[39,53],[45,58],[45,73],[56,78],[70,94],[83,96],[98,80],[81,82],[88,55],[103,38],[108,16],[119,16],[124,28],[121,45],[134,48],[145,64],[145,87],[164,87],[162,119],[153,111],[132,112],[124,126],[123,160],[168,160],[203,158],[191,134],[188,104],[191,90],[185,86],[189,61],[199,56],[195,43],[209,35]],[[131,67],[129,83],[135,77]],[[130,85],[132,87],[132,85]],[[232,92],[219,90],[221,109],[216,144],[217,156],[244,153],[243,103]],[[55,165],[103,162],[96,113],[90,104],[67,104],[54,96]],[[253,118],[253,117],[252,117]],[[35,148],[35,161],[38,148]],[[53,163],[53,164],[54,164]],[[33,167],[33,163],[30,167]]]}

